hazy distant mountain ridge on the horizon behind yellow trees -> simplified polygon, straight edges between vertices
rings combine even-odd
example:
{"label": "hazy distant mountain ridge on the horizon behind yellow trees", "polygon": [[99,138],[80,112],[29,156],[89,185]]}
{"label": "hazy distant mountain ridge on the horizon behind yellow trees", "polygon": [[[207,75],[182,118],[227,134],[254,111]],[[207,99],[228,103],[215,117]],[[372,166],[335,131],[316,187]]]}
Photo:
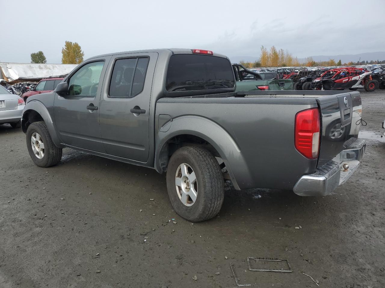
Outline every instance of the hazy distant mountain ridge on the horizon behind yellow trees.
{"label": "hazy distant mountain ridge on the horizon behind yellow trees", "polygon": [[[360,54],[348,54],[348,55],[317,55],[317,56],[311,56],[314,61],[328,61],[328,59],[334,59],[334,61],[338,61],[341,59],[342,63],[348,63],[350,61],[357,62],[361,61],[370,61],[370,60],[385,60],[385,52],[368,52],[368,53],[360,53]],[[239,63],[239,61],[244,60],[246,62],[254,62],[258,61],[259,57],[253,57],[253,56],[234,56],[230,57],[231,62],[233,63]],[[300,62],[305,62],[306,58],[299,58]]]}

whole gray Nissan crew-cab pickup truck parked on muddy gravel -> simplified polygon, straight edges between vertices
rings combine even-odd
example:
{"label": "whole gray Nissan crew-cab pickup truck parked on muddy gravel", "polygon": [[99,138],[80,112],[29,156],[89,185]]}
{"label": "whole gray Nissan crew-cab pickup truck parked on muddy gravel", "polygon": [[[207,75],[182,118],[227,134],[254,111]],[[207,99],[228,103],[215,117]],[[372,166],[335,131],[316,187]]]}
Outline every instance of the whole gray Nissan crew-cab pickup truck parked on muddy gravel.
{"label": "whole gray Nissan crew-cab pickup truck parked on muddy gravel", "polygon": [[166,172],[172,206],[191,221],[218,214],[226,179],[324,196],[357,169],[359,92],[235,89],[229,59],[212,51],[95,56],[29,97],[22,129],[40,167],[71,147]]}

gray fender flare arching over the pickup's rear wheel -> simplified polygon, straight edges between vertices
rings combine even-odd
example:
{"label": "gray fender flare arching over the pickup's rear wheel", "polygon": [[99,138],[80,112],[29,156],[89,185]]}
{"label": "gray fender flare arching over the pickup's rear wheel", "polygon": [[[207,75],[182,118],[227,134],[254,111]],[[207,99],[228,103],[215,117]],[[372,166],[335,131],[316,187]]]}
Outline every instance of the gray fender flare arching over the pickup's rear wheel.
{"label": "gray fender flare arching over the pickup's rear wheel", "polygon": [[184,115],[174,118],[167,132],[157,131],[154,165],[157,172],[161,173],[159,158],[163,147],[167,144],[167,141],[178,135],[198,136],[209,142],[218,151],[226,164],[235,189],[240,190],[237,183],[237,175],[243,174],[239,177],[240,179],[252,178],[241,149],[233,137],[216,122],[195,115]]}

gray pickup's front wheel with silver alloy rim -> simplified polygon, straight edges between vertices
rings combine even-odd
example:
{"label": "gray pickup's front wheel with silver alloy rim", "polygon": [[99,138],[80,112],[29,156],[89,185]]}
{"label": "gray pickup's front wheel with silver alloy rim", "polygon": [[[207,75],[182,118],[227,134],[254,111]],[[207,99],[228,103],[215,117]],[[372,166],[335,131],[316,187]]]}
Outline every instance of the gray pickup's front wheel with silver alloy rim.
{"label": "gray pickup's front wheel with silver alloy rim", "polygon": [[55,146],[44,121],[28,126],[26,141],[29,156],[37,166],[54,166],[62,159],[62,149]]}

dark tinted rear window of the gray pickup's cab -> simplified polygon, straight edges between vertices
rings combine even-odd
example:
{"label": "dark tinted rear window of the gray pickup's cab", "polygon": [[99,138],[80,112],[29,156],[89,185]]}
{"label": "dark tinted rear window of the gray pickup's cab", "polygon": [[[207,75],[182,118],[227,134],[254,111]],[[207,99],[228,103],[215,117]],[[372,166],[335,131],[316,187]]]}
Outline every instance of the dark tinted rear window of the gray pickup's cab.
{"label": "dark tinted rear window of the gray pickup's cab", "polygon": [[166,90],[192,91],[233,88],[233,68],[226,58],[209,55],[172,55],[166,78]]}

